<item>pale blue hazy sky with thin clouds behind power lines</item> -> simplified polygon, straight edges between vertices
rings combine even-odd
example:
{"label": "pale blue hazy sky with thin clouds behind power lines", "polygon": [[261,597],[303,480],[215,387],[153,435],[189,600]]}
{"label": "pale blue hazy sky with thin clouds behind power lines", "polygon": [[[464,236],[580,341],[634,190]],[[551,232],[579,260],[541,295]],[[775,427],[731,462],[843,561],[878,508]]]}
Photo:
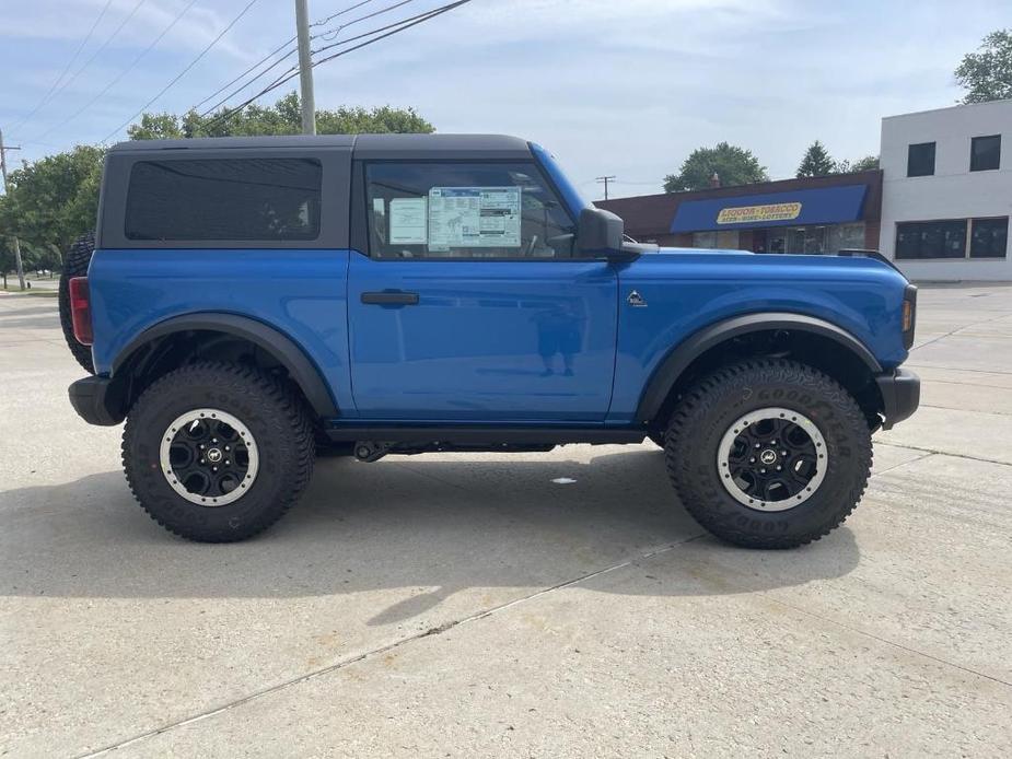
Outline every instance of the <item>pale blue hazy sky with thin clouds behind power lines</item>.
{"label": "pale blue hazy sky with thin clouds behind power lines", "polygon": [[[0,129],[22,147],[10,166],[125,139],[119,125],[249,1],[0,0]],[[325,35],[314,46],[446,0],[349,23],[398,1],[309,0],[312,21],[347,11],[313,27]],[[183,113],[282,45],[293,8],[253,2],[149,110]],[[534,140],[590,199],[600,175],[617,177],[613,197],[660,192],[695,148],[722,140],[786,178],[815,139],[854,160],[879,152],[882,117],[953,105],[953,69],[1012,25],[1010,11],[1010,0],[472,0],[316,67],[316,104],[410,106],[441,132]]]}

